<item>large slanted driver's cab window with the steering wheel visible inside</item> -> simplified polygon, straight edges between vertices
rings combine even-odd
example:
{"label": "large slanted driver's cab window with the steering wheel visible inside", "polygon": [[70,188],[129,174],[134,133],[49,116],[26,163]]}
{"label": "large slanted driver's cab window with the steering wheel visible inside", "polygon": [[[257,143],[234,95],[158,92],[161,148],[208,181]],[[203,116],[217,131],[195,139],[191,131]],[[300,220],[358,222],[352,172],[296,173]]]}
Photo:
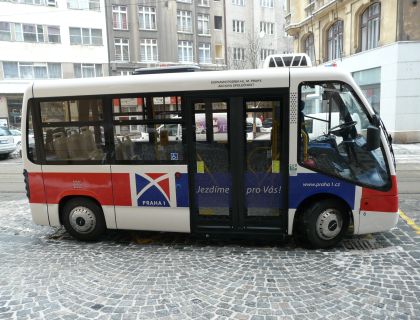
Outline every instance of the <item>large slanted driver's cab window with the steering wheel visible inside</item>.
{"label": "large slanted driver's cab window with the steering wheel visible inside", "polygon": [[353,89],[342,82],[299,86],[302,166],[357,184],[385,188],[389,183],[383,150],[369,147],[371,120]]}

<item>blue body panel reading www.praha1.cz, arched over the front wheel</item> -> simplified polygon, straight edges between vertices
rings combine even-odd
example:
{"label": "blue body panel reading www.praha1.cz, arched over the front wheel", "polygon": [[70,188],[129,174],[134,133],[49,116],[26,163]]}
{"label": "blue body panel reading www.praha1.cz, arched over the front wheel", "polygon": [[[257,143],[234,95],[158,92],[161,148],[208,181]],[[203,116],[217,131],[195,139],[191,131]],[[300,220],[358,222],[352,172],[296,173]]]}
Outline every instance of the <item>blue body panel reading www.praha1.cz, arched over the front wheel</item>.
{"label": "blue body panel reading www.praha1.cz, arched over the front wheel", "polygon": [[289,177],[289,207],[296,209],[306,198],[316,194],[332,194],[354,209],[356,186],[320,173],[301,173]]}

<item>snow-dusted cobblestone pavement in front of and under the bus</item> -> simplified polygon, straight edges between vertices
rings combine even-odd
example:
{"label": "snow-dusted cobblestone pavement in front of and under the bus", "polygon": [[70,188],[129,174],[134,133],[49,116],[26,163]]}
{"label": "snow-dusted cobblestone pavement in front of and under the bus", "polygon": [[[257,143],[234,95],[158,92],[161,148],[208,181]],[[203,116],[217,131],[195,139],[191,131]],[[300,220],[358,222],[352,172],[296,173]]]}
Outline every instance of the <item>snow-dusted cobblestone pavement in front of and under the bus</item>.
{"label": "snow-dusted cobblestone pavement in front of and under the bus", "polygon": [[419,236],[333,250],[109,232],[81,243],[0,194],[0,319],[420,319]]}

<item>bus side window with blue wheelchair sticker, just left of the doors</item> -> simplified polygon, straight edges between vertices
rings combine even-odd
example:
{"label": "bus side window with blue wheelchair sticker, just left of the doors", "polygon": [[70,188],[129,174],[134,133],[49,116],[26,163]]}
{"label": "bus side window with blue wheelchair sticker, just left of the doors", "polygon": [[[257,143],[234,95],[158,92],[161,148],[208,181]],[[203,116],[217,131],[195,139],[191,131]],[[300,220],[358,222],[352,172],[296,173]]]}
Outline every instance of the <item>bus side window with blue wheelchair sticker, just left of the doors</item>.
{"label": "bus side window with blue wheelchair sticker, just left of the doors", "polygon": [[113,114],[117,162],[184,160],[180,97],[114,98]]}

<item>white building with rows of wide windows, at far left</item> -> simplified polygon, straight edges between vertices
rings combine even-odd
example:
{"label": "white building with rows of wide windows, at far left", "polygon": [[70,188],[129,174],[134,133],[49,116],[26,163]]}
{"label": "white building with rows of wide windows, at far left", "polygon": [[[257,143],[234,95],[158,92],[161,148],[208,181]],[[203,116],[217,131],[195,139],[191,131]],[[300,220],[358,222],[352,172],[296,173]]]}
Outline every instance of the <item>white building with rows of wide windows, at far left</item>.
{"label": "white building with rows of wide windows, at far left", "polygon": [[34,79],[108,75],[103,0],[0,0],[0,125],[20,127]]}

